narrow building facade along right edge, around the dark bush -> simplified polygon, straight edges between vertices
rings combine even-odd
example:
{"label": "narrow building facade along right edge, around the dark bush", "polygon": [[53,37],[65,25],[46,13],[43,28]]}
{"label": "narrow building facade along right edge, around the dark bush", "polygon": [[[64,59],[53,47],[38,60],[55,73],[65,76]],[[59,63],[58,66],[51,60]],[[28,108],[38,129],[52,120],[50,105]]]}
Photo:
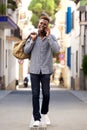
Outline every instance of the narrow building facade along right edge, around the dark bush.
{"label": "narrow building facade along right edge, around the dark bush", "polygon": [[80,12],[80,89],[87,90],[87,77],[82,68],[83,57],[87,55],[87,1],[80,0],[78,10]]}

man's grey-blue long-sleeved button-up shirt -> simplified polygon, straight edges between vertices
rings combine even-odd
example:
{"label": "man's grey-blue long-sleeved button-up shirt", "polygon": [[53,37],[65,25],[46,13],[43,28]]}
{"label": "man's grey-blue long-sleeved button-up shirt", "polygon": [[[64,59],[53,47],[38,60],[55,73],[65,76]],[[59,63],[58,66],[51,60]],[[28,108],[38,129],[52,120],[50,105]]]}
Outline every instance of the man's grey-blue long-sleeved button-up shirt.
{"label": "man's grey-blue long-sleeved button-up shirt", "polygon": [[30,73],[51,74],[53,72],[52,54],[59,52],[59,45],[53,35],[43,39],[38,36],[35,41],[28,39],[24,46],[24,53],[30,52]]}

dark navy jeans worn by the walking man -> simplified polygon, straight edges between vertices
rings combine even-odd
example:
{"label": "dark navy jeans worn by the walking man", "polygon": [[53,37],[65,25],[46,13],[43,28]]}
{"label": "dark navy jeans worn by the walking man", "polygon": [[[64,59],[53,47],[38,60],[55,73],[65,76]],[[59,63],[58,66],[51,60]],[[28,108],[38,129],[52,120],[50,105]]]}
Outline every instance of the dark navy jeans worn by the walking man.
{"label": "dark navy jeans worn by the walking man", "polygon": [[[40,120],[41,114],[46,114],[49,110],[50,100],[50,74],[30,74],[32,88],[32,105],[34,120]],[[42,105],[40,114],[40,83],[42,87]]]}

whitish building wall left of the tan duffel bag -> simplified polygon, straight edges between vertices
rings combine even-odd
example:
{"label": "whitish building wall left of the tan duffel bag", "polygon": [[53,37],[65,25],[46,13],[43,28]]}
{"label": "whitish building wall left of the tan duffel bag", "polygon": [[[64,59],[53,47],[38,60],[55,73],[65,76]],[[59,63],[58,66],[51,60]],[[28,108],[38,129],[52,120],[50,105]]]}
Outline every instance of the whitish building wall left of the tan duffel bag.
{"label": "whitish building wall left of the tan duffel bag", "polygon": [[6,36],[10,35],[10,30],[4,31],[4,74],[5,86],[7,87],[14,79],[16,79],[16,59],[12,54],[13,42],[7,41]]}

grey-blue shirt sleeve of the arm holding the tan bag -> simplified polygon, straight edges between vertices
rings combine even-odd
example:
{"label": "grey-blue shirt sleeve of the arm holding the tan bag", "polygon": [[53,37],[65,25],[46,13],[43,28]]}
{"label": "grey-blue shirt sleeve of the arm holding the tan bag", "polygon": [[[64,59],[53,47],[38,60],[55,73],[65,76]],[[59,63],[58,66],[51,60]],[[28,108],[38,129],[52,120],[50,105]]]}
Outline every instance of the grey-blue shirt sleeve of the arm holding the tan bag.
{"label": "grey-blue shirt sleeve of the arm holding the tan bag", "polygon": [[35,41],[33,41],[31,38],[29,38],[26,41],[26,44],[24,46],[24,53],[25,54],[29,54],[34,46]]}

